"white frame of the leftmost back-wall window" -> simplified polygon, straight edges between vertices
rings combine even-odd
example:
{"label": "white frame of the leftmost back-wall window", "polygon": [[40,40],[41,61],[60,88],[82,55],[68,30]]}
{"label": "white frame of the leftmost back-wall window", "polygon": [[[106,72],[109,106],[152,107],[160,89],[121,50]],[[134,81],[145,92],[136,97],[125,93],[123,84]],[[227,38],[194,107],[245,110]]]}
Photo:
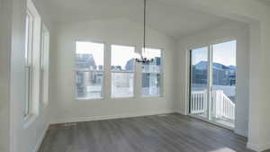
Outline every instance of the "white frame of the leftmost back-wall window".
{"label": "white frame of the leftmost back-wall window", "polygon": [[[90,42],[90,43],[96,43],[96,44],[103,44],[103,70],[93,70],[93,69],[89,69],[89,70],[86,70],[86,69],[77,69],[76,68],[76,42]],[[105,98],[105,53],[106,53],[106,43],[105,42],[102,42],[102,41],[94,41],[94,40],[75,40],[75,56],[74,56],[74,80],[75,80],[75,99],[76,101],[96,101],[96,100],[103,100]],[[98,97],[98,98],[79,98],[77,97],[77,93],[76,93],[76,72],[103,72],[103,82],[102,82],[102,85],[101,85],[101,97]]]}

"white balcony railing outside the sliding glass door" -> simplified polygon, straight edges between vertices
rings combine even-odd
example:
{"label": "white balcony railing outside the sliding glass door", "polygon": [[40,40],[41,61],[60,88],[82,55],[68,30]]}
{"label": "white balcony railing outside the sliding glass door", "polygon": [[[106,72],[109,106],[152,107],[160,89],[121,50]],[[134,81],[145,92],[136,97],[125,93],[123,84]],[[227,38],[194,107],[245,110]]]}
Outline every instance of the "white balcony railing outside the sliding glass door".
{"label": "white balcony railing outside the sliding glass door", "polygon": [[[207,91],[193,91],[191,95],[191,114],[207,113]],[[211,94],[211,117],[215,119],[235,120],[235,103],[223,93],[215,90]]]}

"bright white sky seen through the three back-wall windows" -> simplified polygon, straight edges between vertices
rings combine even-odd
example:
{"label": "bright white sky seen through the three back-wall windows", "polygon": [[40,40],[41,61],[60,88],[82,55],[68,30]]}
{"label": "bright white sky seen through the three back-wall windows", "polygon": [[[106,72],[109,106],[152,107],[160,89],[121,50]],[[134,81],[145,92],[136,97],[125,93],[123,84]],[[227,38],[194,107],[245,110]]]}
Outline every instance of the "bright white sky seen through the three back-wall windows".
{"label": "bright white sky seen through the three back-wall windows", "polygon": [[[111,65],[121,66],[122,69],[126,66],[127,61],[134,58],[135,48],[130,46],[112,45]],[[160,49],[146,49],[148,57],[161,57]],[[77,54],[93,54],[96,65],[103,65],[104,45],[102,43],[94,43],[88,41],[76,42]]]}

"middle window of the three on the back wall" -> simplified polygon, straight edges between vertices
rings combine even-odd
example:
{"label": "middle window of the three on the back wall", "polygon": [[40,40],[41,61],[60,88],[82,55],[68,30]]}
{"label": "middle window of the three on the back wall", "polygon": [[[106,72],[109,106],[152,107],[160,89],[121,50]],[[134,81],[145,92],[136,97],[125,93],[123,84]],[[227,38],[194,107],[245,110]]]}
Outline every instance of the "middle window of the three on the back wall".
{"label": "middle window of the three on the back wall", "polygon": [[112,45],[112,97],[132,97],[134,85],[135,48]]}

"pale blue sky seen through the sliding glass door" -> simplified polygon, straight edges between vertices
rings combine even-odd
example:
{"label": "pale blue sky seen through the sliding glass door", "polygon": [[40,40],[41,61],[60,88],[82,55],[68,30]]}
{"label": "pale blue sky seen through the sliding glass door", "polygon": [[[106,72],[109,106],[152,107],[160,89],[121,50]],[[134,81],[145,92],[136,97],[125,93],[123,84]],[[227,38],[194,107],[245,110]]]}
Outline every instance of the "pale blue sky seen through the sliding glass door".
{"label": "pale blue sky seen through the sliding glass door", "polygon": [[[213,62],[220,63],[225,66],[236,66],[236,40],[231,40],[223,43],[214,44],[213,47]],[[200,61],[207,61],[208,48],[193,49],[193,65]]]}

